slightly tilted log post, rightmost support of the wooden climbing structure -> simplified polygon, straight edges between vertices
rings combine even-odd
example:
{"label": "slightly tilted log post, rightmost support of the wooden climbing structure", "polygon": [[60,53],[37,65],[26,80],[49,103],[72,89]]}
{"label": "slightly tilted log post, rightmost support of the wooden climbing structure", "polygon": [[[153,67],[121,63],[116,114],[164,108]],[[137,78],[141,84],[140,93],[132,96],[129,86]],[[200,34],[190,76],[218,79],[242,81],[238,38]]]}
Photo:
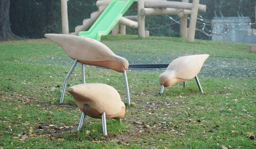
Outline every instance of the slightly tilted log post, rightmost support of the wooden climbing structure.
{"label": "slightly tilted log post, rightmost support of the wooden climbing structure", "polygon": [[192,43],[195,40],[195,28],[197,21],[197,12],[198,12],[199,0],[193,0],[193,7],[190,16],[189,22],[189,31],[188,31],[188,42]]}

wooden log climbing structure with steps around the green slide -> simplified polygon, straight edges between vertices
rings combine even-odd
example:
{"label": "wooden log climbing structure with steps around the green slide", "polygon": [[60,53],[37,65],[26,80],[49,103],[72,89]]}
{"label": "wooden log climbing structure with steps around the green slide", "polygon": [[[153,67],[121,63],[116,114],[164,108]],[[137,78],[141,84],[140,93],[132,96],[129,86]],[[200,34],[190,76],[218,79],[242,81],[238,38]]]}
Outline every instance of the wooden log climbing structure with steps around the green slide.
{"label": "wooden log climbing structure with steps around the green slide", "polygon": [[[96,6],[98,11],[91,13],[91,18],[83,20],[83,25],[76,26],[74,33],[69,33],[68,18],[67,18],[67,0],[61,0],[62,6],[62,31],[63,34],[78,35],[79,32],[88,29],[99,18],[104,9],[110,4],[111,0],[98,0]],[[119,22],[112,28],[112,35],[126,34],[126,26],[138,28],[138,37],[144,38],[149,36],[149,31],[145,30],[145,18],[150,15],[177,15],[180,17],[180,36],[187,38],[188,42],[194,42],[195,28],[198,12],[205,12],[206,5],[199,4],[199,0],[182,0],[167,1],[167,0],[137,0],[130,9],[137,9],[137,16],[124,16],[119,19]],[[190,15],[189,27],[188,15]]]}

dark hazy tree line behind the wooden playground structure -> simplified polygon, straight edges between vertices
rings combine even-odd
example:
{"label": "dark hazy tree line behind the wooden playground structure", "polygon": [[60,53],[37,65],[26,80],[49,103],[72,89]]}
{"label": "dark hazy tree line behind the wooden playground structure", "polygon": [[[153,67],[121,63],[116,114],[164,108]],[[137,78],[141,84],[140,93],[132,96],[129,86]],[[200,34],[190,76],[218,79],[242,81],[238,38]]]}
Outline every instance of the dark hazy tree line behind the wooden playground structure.
{"label": "dark hazy tree line behind the wooden playground structure", "polygon": [[[70,32],[74,31],[75,26],[82,25],[82,20],[90,18],[90,14],[97,10],[96,1],[68,1]],[[213,0],[200,0],[200,3],[207,5],[207,11],[199,13],[199,15],[209,20],[212,19],[214,16]],[[255,22],[255,4],[256,0],[243,0],[243,15],[251,18],[252,22]],[[236,17],[237,9],[238,0],[225,0],[222,6],[222,13],[225,17]],[[130,9],[125,15],[137,15],[137,10]],[[12,32],[21,37],[41,38],[46,33],[61,33],[60,0],[10,0],[9,16]],[[179,20],[177,16],[171,17]],[[255,28],[255,26],[252,27]],[[150,31],[150,35],[179,36],[179,25],[166,15],[147,16],[146,28]],[[127,33],[137,34],[137,29],[127,27]],[[209,36],[200,32],[196,32],[196,38],[210,39]]]}

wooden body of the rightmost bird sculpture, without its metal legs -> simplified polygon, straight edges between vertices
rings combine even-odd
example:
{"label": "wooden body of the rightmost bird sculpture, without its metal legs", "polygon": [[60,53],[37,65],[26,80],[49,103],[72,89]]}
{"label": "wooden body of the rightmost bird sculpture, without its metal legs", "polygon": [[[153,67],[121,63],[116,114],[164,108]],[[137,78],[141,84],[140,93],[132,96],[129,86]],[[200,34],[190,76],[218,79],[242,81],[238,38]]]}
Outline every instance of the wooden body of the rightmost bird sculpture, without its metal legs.
{"label": "wooden body of the rightmost bird sculpture, without its metal legs", "polygon": [[209,54],[183,56],[172,61],[160,74],[159,83],[165,87],[194,78],[201,70]]}

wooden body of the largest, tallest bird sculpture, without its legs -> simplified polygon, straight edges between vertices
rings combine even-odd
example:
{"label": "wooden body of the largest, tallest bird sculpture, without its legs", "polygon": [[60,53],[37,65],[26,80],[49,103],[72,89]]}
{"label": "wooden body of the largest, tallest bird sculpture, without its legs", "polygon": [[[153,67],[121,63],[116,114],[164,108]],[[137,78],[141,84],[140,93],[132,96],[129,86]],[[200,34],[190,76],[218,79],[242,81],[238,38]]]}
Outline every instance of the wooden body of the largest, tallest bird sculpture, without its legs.
{"label": "wooden body of the largest, tallest bird sculpture, without its legs", "polygon": [[59,44],[68,56],[81,63],[105,67],[118,72],[128,69],[129,63],[125,58],[116,55],[109,47],[97,40],[63,34],[45,34],[45,37]]}

